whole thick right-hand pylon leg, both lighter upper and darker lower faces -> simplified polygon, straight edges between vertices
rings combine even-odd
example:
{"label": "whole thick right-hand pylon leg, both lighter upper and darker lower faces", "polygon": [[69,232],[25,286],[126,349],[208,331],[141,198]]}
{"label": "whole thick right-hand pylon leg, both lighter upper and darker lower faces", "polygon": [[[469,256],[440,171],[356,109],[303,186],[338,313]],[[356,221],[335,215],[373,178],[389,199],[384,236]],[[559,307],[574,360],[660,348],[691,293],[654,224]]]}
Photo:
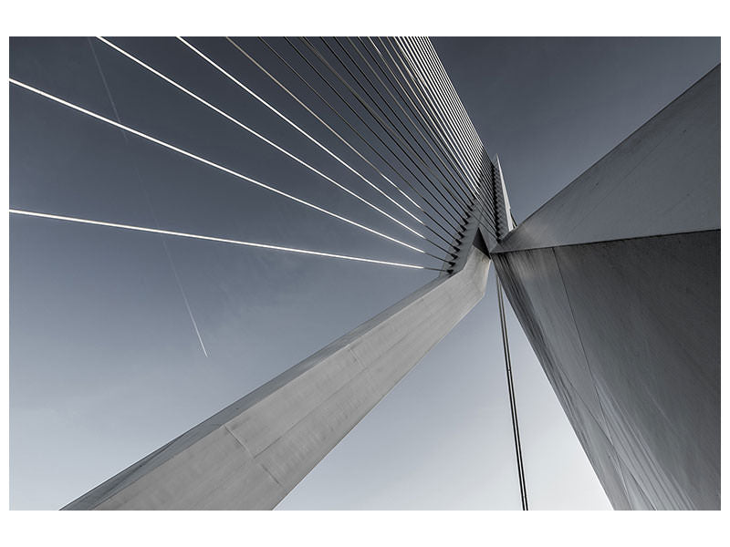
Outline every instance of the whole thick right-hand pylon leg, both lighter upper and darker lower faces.
{"label": "whole thick right-hand pylon leg, both lighter upper and darker lower faces", "polygon": [[491,249],[616,509],[720,507],[720,67]]}

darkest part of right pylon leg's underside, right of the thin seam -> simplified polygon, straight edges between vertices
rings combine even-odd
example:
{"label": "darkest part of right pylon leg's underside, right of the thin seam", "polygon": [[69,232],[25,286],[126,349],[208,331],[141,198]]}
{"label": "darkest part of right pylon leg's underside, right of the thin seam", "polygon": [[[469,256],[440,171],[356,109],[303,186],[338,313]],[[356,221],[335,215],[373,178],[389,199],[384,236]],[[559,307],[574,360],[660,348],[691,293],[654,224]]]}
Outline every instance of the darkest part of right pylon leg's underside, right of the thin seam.
{"label": "darkest part of right pylon leg's underside, right of the thin seam", "polygon": [[622,459],[657,506],[719,506],[719,231],[555,253]]}

